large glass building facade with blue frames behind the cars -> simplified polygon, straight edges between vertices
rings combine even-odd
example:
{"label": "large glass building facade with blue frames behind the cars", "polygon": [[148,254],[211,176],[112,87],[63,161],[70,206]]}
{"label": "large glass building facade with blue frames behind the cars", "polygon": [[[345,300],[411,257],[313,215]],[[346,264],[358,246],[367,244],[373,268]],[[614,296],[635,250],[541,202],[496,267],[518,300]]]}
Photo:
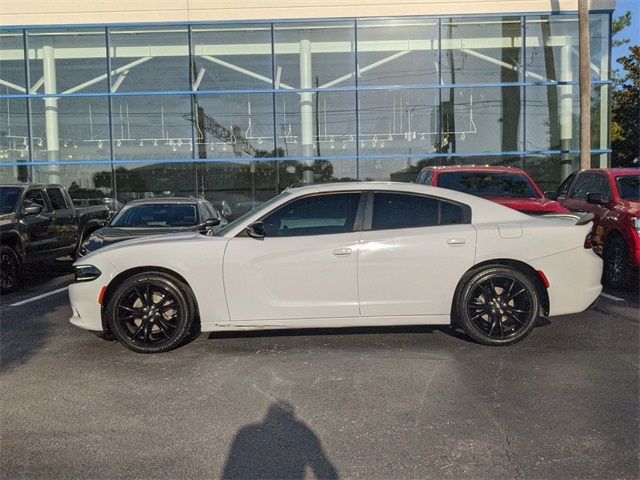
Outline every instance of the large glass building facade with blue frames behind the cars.
{"label": "large glass building facade with blue frames behind the cars", "polygon": [[[591,14],[592,162],[608,165],[610,14]],[[0,183],[80,205],[427,165],[579,165],[572,14],[0,29]]]}

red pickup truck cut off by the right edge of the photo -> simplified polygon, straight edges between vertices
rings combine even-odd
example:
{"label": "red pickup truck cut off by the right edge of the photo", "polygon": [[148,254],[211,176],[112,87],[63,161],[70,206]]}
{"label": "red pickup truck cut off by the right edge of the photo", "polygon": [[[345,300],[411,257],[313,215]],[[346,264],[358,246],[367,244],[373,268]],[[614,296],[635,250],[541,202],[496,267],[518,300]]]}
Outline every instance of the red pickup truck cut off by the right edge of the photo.
{"label": "red pickup truck cut off by the right edge of the photo", "polygon": [[640,266],[640,169],[603,168],[574,172],[555,198],[574,212],[595,215],[593,250],[604,258],[603,283],[622,288]]}

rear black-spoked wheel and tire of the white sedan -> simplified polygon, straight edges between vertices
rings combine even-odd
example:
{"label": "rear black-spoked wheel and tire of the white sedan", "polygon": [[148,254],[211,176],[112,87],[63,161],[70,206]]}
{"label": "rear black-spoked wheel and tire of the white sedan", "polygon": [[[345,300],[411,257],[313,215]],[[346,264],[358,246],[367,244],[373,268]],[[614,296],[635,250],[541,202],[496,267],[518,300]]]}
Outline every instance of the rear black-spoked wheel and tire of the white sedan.
{"label": "rear black-spoked wheel and tire of the white sedan", "polygon": [[458,289],[454,323],[483,345],[512,345],[529,335],[540,312],[531,279],[510,267],[471,273]]}

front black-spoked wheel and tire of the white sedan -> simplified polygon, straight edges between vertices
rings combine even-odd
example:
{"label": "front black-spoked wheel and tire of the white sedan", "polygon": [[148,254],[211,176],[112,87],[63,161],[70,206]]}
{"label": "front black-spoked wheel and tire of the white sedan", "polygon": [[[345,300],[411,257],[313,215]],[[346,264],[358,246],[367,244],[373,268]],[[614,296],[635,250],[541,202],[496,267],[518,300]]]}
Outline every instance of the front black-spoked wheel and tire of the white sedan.
{"label": "front black-spoked wheel and tire of the white sedan", "polygon": [[107,305],[113,336],[138,353],[160,353],[182,345],[194,323],[187,285],[159,272],[134,275],[121,283]]}

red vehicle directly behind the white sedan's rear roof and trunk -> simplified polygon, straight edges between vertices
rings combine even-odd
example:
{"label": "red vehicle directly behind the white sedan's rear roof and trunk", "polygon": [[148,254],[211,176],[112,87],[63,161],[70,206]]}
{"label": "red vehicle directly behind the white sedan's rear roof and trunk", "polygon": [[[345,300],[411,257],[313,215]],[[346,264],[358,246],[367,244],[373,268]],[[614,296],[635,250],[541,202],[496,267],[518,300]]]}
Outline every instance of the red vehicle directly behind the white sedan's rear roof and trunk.
{"label": "red vehicle directly behind the white sedan's rear roof and trunk", "polygon": [[542,190],[523,170],[513,167],[450,165],[425,167],[416,183],[477,195],[523,213],[569,213]]}

